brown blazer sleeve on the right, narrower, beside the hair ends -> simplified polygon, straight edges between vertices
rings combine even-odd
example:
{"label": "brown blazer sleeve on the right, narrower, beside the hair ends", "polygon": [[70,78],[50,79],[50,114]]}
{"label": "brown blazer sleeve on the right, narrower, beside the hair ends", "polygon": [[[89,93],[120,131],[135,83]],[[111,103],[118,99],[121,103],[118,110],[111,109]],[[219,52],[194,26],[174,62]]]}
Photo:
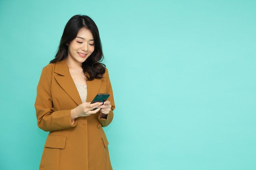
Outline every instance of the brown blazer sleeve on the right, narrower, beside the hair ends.
{"label": "brown blazer sleeve on the right, narrower, beside the hair ends", "polygon": [[106,93],[110,94],[108,100],[110,101],[110,104],[111,104],[112,107],[111,107],[111,110],[108,113],[106,119],[102,118],[102,113],[99,113],[99,122],[101,123],[102,127],[106,127],[111,123],[111,121],[114,117],[113,110],[115,109],[114,96],[113,96],[112,86],[111,86],[111,83],[110,83],[110,78],[109,78],[109,75],[108,75],[108,69],[107,68],[106,68],[106,73],[105,74],[106,74]]}

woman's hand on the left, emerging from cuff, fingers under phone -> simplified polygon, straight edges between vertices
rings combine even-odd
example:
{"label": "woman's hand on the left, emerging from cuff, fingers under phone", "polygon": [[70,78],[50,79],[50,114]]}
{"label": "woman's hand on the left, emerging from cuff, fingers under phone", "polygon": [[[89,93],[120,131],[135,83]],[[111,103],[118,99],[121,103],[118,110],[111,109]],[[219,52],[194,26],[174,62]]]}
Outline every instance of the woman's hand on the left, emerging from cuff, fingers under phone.
{"label": "woman's hand on the left, emerging from cuff, fingers under phone", "polygon": [[[102,102],[96,102],[93,104],[91,104],[90,102],[85,102],[80,104],[79,106],[71,110],[71,120],[74,121],[74,119],[76,119],[77,117],[90,116],[91,114],[99,112],[100,108],[97,107],[102,104]],[[97,109],[93,110],[94,108]]]}

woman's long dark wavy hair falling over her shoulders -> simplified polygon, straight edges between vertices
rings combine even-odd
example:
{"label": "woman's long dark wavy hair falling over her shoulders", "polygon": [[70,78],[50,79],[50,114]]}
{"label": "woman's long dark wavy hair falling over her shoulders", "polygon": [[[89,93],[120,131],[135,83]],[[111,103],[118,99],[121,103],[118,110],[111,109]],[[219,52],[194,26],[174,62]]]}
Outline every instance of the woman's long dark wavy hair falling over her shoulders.
{"label": "woman's long dark wavy hair falling over her shoulders", "polygon": [[72,18],[70,18],[63,31],[58,52],[50,63],[56,63],[67,58],[67,44],[70,44],[70,42],[76,38],[77,33],[81,28],[89,29],[94,38],[94,51],[85,60],[85,62],[83,62],[83,73],[85,74],[87,80],[93,80],[94,78],[100,79],[105,73],[106,67],[105,64],[101,63],[103,61],[101,39],[99,37],[97,25],[90,17],[86,15],[74,15]]}

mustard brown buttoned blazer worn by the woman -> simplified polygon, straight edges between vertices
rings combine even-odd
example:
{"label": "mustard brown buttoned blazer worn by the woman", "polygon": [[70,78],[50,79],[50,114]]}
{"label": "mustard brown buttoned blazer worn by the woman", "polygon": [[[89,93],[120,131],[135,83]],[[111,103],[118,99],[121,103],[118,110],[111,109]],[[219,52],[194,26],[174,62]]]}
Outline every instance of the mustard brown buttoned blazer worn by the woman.
{"label": "mustard brown buttoned blazer worn by the woman", "polygon": [[108,70],[101,79],[87,81],[87,102],[97,93],[110,94],[112,110],[103,119],[100,113],[78,117],[71,123],[70,111],[82,103],[67,61],[43,68],[37,86],[36,117],[38,127],[49,131],[40,170],[112,170],[108,140],[102,127],[113,119],[115,108]]}

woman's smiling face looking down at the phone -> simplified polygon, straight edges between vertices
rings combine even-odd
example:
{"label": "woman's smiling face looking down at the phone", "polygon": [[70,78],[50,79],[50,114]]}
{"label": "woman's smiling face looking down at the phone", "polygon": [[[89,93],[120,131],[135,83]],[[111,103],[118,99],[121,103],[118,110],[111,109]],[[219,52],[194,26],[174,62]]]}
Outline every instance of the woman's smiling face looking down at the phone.
{"label": "woman's smiling face looking down at the phone", "polygon": [[76,38],[67,44],[67,60],[72,63],[82,64],[94,51],[94,38],[89,29],[82,28]]}

